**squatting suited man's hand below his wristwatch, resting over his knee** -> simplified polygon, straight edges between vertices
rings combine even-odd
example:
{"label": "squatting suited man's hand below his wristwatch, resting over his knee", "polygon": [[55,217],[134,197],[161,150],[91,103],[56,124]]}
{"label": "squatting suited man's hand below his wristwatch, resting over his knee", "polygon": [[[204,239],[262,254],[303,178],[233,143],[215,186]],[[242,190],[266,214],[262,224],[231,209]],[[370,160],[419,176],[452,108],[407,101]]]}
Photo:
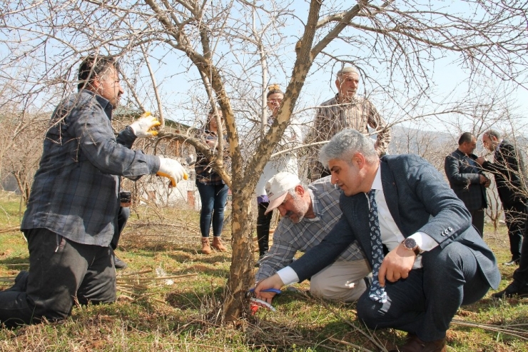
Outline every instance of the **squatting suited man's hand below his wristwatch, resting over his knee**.
{"label": "squatting suited man's hand below his wristwatch, resting over his knee", "polygon": [[400,278],[407,278],[412,265],[415,263],[415,259],[415,252],[404,248],[401,244],[387,253],[377,275],[380,285],[385,287],[385,278],[390,282],[396,282]]}

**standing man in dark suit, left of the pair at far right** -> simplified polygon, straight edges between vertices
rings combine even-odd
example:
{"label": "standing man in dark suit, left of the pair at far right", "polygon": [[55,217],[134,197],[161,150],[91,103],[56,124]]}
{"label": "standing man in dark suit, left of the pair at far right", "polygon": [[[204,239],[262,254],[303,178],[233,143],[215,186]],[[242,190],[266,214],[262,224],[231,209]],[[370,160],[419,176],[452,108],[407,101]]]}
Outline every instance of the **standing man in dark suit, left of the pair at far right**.
{"label": "standing man in dark suit, left of the pair at far right", "polygon": [[491,183],[482,174],[482,167],[477,164],[473,154],[477,139],[473,134],[464,132],[458,140],[458,149],[445,157],[444,170],[451,189],[467,210],[471,213],[472,224],[484,234],[484,208],[487,208],[486,188]]}

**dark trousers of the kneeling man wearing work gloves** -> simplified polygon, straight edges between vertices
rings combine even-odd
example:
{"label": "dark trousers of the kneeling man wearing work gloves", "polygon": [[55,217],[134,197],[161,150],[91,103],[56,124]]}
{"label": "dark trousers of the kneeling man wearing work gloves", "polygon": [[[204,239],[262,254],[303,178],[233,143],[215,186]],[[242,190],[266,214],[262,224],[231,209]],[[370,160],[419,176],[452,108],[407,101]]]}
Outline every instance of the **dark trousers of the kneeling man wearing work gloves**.
{"label": "dark trousers of the kneeling man wearing work gloves", "polygon": [[29,248],[29,273],[0,292],[0,322],[6,326],[59,321],[79,303],[116,300],[116,269],[109,246],[70,241],[46,228],[24,232]]}

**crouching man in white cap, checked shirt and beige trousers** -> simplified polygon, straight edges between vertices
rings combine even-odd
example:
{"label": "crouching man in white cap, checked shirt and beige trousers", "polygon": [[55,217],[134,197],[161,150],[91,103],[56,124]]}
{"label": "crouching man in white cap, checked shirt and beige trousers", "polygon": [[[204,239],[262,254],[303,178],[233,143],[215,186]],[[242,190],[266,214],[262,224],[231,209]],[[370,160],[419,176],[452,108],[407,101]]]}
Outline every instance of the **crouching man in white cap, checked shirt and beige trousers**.
{"label": "crouching man in white cap, checked shirt and beige trousers", "polygon": [[[332,185],[330,177],[304,186],[294,174],[280,172],[268,181],[266,192],[270,199],[267,211],[278,208],[283,218],[273,235],[273,246],[260,260],[255,281],[288,266],[297,251],[317,246],[341,218],[342,192]],[[312,276],[310,293],[336,301],[356,301],[367,288],[365,276],[369,274],[370,266],[355,242],[334,263]]]}

